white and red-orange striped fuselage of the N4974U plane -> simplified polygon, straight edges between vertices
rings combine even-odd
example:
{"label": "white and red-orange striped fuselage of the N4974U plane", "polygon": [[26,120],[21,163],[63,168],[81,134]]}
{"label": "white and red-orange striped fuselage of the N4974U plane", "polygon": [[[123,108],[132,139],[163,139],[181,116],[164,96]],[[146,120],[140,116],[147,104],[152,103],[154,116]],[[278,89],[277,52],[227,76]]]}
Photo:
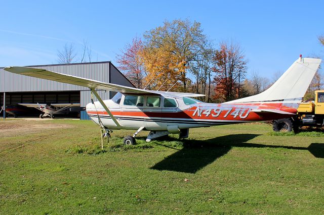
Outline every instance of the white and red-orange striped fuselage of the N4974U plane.
{"label": "white and red-orange striped fuselage of the N4974U plane", "polygon": [[[143,102],[134,102],[132,105],[127,101],[127,96],[141,96],[141,99],[137,98],[135,100]],[[159,100],[159,102],[152,106],[150,103],[152,100]],[[252,112],[252,110],[260,107],[266,109],[280,108],[289,113],[296,113],[296,109],[291,108],[292,105],[285,108],[282,106],[282,102],[272,102],[264,105],[260,103],[247,103],[244,105],[217,104],[205,103],[191,98],[123,94],[119,100],[104,100],[104,103],[118,121],[120,127],[116,126],[98,101],[94,102],[94,104],[89,103],[86,110],[95,123],[99,124],[99,116],[102,124],[109,129],[137,130],[140,127],[145,127],[146,130],[150,131],[170,131],[172,129],[210,127],[282,118],[282,114],[264,115]]]}

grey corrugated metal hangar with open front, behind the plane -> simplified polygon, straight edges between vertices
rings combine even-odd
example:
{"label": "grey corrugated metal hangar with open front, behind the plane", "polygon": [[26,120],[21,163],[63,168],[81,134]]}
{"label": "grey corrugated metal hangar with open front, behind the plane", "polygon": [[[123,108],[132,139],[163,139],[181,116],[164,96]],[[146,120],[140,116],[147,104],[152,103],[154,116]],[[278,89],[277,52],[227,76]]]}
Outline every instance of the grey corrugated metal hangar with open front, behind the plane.
{"label": "grey corrugated metal hangar with open front, behind the plane", "polygon": [[[29,67],[134,87],[134,85],[109,61]],[[16,107],[18,103],[79,103],[80,107],[85,107],[91,102],[90,90],[86,87],[17,75],[7,72],[3,68],[0,68],[0,80],[0,106],[3,108],[7,107],[7,112],[10,108]],[[109,99],[114,93],[99,90],[98,94],[100,94],[103,99]],[[27,110],[29,113],[21,112],[18,117],[28,115],[37,117],[39,115],[36,109],[33,110],[29,108]],[[1,117],[5,118],[5,110],[2,112]],[[71,116],[82,120],[89,119],[85,111],[81,111],[78,115]]]}

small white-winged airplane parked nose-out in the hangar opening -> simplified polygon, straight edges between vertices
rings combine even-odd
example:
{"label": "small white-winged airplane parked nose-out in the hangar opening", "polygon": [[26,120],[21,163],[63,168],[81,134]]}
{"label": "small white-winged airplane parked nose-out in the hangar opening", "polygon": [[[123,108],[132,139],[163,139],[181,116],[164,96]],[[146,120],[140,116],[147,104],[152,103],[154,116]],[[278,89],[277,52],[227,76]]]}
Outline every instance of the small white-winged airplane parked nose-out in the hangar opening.
{"label": "small white-winged airplane parked nose-out in the hangar opening", "polygon": [[31,104],[31,103],[19,103],[19,105],[26,106],[28,108],[35,108],[44,114],[39,115],[39,118],[51,117],[54,119],[54,114],[67,114],[72,107],[79,107],[80,103],[61,103],[61,104]]}

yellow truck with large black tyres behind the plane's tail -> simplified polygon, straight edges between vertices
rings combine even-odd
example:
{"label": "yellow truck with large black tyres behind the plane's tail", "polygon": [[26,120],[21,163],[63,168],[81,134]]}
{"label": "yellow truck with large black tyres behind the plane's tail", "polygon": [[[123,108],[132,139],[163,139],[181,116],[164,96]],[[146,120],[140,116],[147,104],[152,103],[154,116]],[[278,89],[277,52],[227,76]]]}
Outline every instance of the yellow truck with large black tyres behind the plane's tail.
{"label": "yellow truck with large black tyres behind the plane's tail", "polygon": [[303,126],[324,126],[324,90],[316,90],[314,98],[301,102],[294,117],[272,121],[273,131],[298,132]]}

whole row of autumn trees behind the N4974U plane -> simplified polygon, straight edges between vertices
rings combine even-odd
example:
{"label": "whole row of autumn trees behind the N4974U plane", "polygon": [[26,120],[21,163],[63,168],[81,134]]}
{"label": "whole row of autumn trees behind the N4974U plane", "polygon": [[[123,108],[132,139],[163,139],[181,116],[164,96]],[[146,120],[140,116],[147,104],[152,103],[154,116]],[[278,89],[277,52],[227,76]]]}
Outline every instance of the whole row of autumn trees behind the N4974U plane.
{"label": "whole row of autumn trees behind the N4974U plane", "polygon": [[200,23],[188,19],[165,21],[133,38],[116,59],[138,88],[206,94],[207,102],[253,95],[269,85],[257,73],[246,78],[248,60],[238,43],[215,47]]}

